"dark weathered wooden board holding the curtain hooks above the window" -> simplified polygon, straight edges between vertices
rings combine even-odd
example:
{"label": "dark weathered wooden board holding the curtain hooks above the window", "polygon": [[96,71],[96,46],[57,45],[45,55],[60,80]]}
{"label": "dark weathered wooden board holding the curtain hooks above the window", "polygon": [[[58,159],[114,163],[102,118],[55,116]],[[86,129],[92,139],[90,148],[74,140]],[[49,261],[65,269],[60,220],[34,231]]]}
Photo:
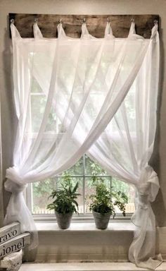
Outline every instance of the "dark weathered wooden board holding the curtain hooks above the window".
{"label": "dark weathered wooden board holding the curtain hooks above the window", "polygon": [[80,37],[83,18],[86,18],[89,33],[94,37],[103,37],[107,18],[110,19],[113,35],[127,37],[131,19],[134,18],[136,33],[145,38],[151,37],[151,28],[158,15],[57,15],[57,14],[23,14],[9,13],[9,22],[13,18],[21,37],[33,37],[32,25],[37,18],[44,37],[57,37],[57,25],[61,19],[65,32],[70,37]]}

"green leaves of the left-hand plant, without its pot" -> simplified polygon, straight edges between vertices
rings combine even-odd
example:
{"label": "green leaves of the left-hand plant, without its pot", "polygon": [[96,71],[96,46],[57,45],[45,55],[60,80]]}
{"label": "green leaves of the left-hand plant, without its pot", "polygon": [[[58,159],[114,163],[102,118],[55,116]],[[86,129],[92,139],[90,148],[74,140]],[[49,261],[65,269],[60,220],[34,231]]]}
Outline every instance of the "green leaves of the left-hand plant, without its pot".
{"label": "green leaves of the left-hand plant, without its pot", "polygon": [[77,193],[78,182],[73,187],[71,176],[68,174],[63,176],[60,183],[60,188],[53,190],[49,198],[55,198],[53,203],[47,205],[47,209],[55,210],[60,214],[78,213],[77,197],[80,195]]}

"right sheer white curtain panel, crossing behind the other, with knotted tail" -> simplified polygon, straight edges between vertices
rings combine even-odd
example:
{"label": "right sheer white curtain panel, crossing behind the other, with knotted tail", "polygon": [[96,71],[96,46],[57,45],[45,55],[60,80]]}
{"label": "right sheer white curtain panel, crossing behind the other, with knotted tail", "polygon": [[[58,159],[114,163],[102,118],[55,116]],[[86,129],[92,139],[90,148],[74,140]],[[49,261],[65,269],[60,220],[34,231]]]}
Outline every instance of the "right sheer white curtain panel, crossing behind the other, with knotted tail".
{"label": "right sheer white curtain panel, crossing behind the other, with knotted tail", "polygon": [[[158,97],[159,39],[157,25],[152,30],[151,43],[143,64],[124,102],[96,143],[89,156],[96,159],[112,176],[136,186],[136,225],[134,241],[129,248],[129,260],[139,267],[154,270],[161,263],[155,257],[155,216],[151,202],[158,193],[158,176],[148,166],[153,152]],[[132,33],[134,35],[132,35]],[[139,38],[134,23],[129,37]]]}

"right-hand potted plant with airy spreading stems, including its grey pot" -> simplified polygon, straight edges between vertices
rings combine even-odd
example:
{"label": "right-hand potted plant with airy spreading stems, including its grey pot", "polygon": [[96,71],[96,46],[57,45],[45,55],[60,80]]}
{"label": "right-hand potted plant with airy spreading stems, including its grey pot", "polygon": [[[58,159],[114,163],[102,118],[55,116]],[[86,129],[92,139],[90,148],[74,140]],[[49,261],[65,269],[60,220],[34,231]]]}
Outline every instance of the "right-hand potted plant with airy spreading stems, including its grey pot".
{"label": "right-hand potted plant with airy spreading stems, including its grey pot", "polygon": [[[93,176],[95,179],[95,176]],[[128,202],[127,195],[120,191],[114,192],[101,182],[96,182],[96,193],[90,196],[89,210],[92,210],[97,229],[106,229],[110,215],[115,217],[115,206],[119,207],[125,216],[125,204]]]}

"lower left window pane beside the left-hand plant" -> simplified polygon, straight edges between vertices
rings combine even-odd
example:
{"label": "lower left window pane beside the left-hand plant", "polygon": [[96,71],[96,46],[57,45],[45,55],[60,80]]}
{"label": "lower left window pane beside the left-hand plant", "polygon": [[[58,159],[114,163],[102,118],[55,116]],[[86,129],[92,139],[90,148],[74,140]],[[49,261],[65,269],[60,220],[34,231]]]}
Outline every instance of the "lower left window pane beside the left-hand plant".
{"label": "lower left window pane beside the left-hand plant", "polygon": [[47,179],[46,181],[32,183],[32,213],[34,215],[54,213],[53,210],[47,210],[46,205],[51,203],[49,195],[55,188],[55,179]]}

